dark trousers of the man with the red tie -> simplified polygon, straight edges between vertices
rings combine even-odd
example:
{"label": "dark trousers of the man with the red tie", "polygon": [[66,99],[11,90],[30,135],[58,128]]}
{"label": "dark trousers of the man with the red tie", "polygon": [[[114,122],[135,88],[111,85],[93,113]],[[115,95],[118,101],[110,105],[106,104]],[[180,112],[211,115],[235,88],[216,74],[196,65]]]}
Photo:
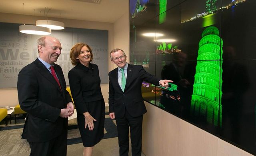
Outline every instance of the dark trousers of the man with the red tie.
{"label": "dark trousers of the man with the red tie", "polygon": [[30,156],[66,156],[67,155],[67,130],[60,136],[46,142],[29,142]]}

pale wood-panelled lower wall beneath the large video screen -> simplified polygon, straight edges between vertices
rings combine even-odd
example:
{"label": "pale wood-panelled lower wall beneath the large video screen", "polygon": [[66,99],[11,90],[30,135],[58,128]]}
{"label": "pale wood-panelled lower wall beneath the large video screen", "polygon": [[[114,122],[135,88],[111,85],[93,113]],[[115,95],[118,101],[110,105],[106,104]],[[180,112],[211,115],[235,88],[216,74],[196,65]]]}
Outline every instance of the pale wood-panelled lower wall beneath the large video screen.
{"label": "pale wood-panelled lower wall beneath the large video screen", "polygon": [[142,151],[146,156],[252,156],[248,152],[145,102]]}

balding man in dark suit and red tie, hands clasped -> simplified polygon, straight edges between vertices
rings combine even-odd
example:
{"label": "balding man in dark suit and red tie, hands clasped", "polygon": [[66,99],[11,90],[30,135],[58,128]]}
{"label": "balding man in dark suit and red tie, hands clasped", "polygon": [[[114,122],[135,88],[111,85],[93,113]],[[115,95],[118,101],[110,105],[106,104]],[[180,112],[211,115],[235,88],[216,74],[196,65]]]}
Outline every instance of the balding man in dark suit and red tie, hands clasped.
{"label": "balding man in dark suit and red tie, hands clasped", "polygon": [[30,156],[66,156],[67,119],[74,106],[62,69],[54,64],[61,49],[56,38],[39,38],[39,57],[18,74],[19,103],[27,112],[22,138],[29,142]]}

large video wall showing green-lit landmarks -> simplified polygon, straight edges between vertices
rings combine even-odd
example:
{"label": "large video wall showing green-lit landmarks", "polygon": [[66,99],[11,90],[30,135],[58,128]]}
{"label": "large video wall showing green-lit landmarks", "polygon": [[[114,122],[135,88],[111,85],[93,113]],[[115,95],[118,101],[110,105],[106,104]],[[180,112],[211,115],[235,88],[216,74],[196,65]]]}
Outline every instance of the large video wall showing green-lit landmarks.
{"label": "large video wall showing green-lit landmarks", "polygon": [[[130,0],[144,100],[256,155],[256,1]],[[175,125],[174,125],[175,126]]]}

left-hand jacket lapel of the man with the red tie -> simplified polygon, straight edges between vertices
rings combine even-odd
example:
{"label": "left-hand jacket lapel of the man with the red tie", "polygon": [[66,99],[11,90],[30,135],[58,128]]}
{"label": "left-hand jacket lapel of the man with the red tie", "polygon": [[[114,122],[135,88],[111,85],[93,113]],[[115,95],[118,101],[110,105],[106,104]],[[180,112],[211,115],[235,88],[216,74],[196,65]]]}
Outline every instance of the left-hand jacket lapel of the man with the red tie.
{"label": "left-hand jacket lapel of the man with the red tie", "polygon": [[54,77],[52,76],[52,74],[49,72],[49,70],[44,66],[44,64],[42,64],[42,62],[40,62],[38,59],[36,60],[36,65],[38,67],[38,72],[44,76],[47,80],[49,80],[54,86],[56,86],[58,88],[58,90],[60,92],[62,92],[60,90],[60,86],[58,85],[58,83],[56,82],[56,80],[54,79]]}

